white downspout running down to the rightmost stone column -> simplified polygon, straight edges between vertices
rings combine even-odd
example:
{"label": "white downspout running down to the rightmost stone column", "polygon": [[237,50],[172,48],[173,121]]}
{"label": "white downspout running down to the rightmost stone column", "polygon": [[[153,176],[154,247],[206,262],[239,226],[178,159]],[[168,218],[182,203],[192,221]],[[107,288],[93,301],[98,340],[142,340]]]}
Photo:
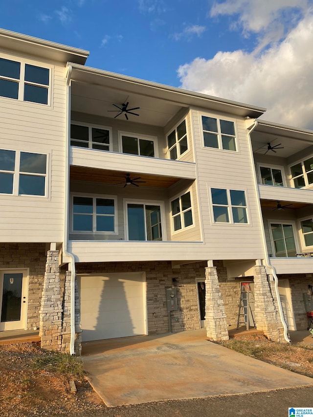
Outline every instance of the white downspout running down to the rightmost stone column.
{"label": "white downspout running down to the rightmost stone column", "polygon": [[[251,142],[251,133],[254,131],[254,129],[257,127],[258,125],[258,121],[255,120],[254,121],[254,125],[252,126],[252,128],[249,130],[248,135],[249,135],[249,148],[250,148],[250,154],[251,154],[251,161],[254,161],[253,158],[253,151],[252,151],[252,142]],[[256,195],[258,196],[258,211],[259,211],[259,218],[262,221],[262,244],[263,244],[263,250],[264,250],[264,263],[265,263],[265,267],[267,270],[271,271],[271,275],[273,276],[274,279],[274,288],[275,288],[275,294],[276,294],[276,298],[277,298],[277,305],[278,305],[278,311],[279,311],[279,316],[280,316],[280,321],[283,325],[284,328],[284,338],[286,340],[286,342],[291,343],[290,338],[288,337],[288,328],[287,328],[287,324],[284,318],[284,313],[283,313],[283,307],[282,307],[282,303],[281,303],[281,299],[280,299],[280,295],[279,295],[279,291],[278,291],[278,278],[275,272],[275,268],[270,264],[269,258],[268,258],[268,248],[267,248],[267,244],[266,244],[266,237],[265,237],[265,231],[264,231],[264,226],[263,226],[263,216],[262,216],[262,210],[261,210],[261,203],[260,203],[260,195],[259,195],[259,189],[258,189],[258,184],[256,181],[256,172],[255,172],[255,166],[254,163],[252,163],[252,169],[254,172],[254,188],[255,188],[255,192]]]}

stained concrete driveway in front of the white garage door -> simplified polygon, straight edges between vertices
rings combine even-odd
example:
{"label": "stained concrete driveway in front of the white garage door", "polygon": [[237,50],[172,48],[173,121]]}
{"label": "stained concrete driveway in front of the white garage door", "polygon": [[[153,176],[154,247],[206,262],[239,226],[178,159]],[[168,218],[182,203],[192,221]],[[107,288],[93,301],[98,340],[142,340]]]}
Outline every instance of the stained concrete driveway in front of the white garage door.
{"label": "stained concrete driveway in front of the white garage door", "polygon": [[83,343],[89,382],[109,407],[313,385],[313,379],[206,340],[205,329]]}

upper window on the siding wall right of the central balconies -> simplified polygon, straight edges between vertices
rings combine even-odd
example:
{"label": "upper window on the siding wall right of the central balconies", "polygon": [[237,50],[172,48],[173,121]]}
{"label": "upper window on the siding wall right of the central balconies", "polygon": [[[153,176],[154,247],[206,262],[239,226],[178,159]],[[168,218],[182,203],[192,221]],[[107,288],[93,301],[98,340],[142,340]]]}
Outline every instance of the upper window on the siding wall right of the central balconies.
{"label": "upper window on the siding wall right of the central balconies", "polygon": [[233,121],[202,116],[202,128],[206,148],[237,151],[235,123]]}

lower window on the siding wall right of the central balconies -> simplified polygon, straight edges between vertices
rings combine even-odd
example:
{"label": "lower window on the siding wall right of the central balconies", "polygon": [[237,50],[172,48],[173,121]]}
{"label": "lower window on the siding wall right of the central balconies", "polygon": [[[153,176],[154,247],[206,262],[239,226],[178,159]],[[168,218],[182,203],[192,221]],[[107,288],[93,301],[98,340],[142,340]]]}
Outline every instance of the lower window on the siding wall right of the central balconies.
{"label": "lower window on the siding wall right of the central balconies", "polygon": [[211,188],[213,217],[216,223],[247,223],[245,191]]}

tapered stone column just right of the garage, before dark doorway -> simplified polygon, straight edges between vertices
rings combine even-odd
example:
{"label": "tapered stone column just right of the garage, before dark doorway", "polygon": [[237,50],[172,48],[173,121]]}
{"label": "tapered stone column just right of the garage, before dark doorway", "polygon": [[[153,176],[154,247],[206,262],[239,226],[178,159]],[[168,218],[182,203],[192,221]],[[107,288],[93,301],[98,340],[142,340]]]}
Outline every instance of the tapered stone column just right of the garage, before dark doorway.
{"label": "tapered stone column just right of the garage, before dark doorway", "polygon": [[215,266],[205,268],[206,335],[212,340],[228,340],[224,303]]}

